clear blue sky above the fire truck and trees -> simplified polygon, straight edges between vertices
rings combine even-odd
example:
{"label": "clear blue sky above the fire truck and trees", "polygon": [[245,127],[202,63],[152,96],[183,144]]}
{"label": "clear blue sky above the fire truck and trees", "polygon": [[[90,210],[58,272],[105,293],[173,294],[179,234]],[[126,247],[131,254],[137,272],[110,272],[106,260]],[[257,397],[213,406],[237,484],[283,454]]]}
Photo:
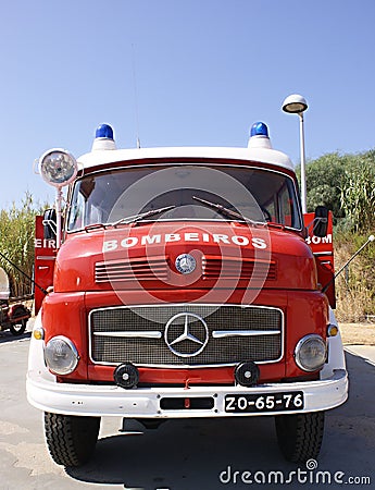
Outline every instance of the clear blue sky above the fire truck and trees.
{"label": "clear blue sky above the fire truck and trees", "polygon": [[375,147],[374,0],[0,7],[0,209],[26,191],[52,201],[34,160],[51,147],[78,157],[102,122],[118,147],[136,146],[137,126],[152,147],[246,146],[264,121],[274,148],[298,162],[298,117],[280,110],[298,93],[308,158]]}

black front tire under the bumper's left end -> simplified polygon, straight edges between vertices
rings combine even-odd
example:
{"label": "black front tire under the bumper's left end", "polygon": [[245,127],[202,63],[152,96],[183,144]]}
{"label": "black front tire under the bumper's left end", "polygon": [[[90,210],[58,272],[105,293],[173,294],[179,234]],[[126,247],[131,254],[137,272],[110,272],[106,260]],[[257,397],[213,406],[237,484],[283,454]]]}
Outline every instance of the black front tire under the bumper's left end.
{"label": "black front tire under the bumper's left end", "polygon": [[65,467],[82,466],[92,456],[100,417],[45,413],[45,433],[52,460]]}

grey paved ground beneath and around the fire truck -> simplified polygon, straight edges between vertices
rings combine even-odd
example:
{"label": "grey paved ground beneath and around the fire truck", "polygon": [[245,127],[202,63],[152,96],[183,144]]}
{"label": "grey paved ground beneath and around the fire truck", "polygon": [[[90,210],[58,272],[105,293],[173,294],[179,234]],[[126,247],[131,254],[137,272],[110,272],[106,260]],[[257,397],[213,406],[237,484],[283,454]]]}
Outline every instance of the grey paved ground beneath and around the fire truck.
{"label": "grey paved ground beneath and around the fire truck", "polygon": [[[272,470],[285,478],[298,468],[279,455],[272,417],[237,420],[167,421],[158,430],[143,430],[135,421],[118,433],[120,419],[104,419],[93,461],[65,471],[50,460],[42,433],[41,414],[25,395],[29,338],[0,332],[0,489],[171,489],[284,488],[250,485]],[[362,357],[363,356],[363,357]],[[347,352],[350,397],[326,417],[326,432],[318,467],[302,467],[299,485],[291,475],[288,488],[339,488],[350,477],[371,478],[375,486],[375,347],[350,346]],[[342,485],[312,485],[316,471],[329,473]],[[235,471],[239,471],[235,474]],[[337,473],[339,471],[339,473]],[[222,475],[222,481],[220,480]],[[326,474],[328,478],[328,474]],[[226,483],[226,481],[228,481]],[[328,481],[327,479],[325,481]],[[285,485],[286,487],[286,485]],[[357,488],[371,488],[370,485]]]}

